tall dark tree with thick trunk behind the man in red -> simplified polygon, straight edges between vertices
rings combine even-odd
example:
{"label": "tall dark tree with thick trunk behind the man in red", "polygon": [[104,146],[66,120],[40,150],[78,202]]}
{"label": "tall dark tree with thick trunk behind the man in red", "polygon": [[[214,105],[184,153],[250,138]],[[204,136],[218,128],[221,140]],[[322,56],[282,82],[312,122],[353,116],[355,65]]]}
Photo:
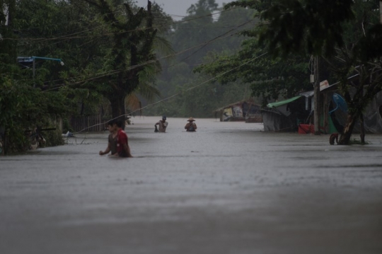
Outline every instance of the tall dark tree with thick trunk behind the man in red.
{"label": "tall dark tree with thick trunk behind the man in red", "polygon": [[[110,33],[110,50],[106,50],[100,69],[90,74],[88,81],[110,100],[112,117],[124,117],[125,98],[139,86],[139,75],[148,69],[157,69],[154,40],[157,30],[153,25],[151,2],[147,9],[134,11],[129,3],[117,11],[105,0],[85,0],[95,6]],[[90,70],[90,68],[88,68]]]}

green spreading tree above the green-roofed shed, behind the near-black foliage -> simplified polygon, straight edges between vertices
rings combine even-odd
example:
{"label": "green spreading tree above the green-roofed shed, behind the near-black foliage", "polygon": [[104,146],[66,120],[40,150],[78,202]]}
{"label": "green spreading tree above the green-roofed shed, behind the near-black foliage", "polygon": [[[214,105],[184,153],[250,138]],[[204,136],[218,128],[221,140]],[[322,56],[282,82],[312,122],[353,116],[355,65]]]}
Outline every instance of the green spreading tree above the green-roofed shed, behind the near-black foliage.
{"label": "green spreading tree above the green-roofed shed, behind the near-black foliage", "polygon": [[[253,15],[263,8],[259,1],[233,2],[225,6],[227,10],[237,9],[237,6],[252,8]],[[257,28],[260,25],[256,16],[251,18],[251,27],[241,31],[245,35],[240,50],[236,54],[224,55],[216,52],[209,62],[195,69],[196,72],[216,76],[219,83],[239,82],[250,83],[253,96],[260,96],[263,104],[268,100],[277,100],[279,96],[291,97],[296,93],[311,88],[308,82],[309,57],[306,54],[296,54],[287,59],[275,57],[258,45]]]}

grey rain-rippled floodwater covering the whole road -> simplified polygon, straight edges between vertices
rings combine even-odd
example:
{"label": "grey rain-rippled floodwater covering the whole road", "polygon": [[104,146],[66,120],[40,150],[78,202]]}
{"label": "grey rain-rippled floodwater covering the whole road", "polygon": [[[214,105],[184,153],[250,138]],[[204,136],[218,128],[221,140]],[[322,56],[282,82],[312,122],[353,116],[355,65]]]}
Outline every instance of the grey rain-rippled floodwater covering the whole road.
{"label": "grey rain-rippled floodwater covering the whole road", "polygon": [[2,254],[382,253],[382,135],[135,117],[135,158],[99,156],[108,133],[0,157]]}

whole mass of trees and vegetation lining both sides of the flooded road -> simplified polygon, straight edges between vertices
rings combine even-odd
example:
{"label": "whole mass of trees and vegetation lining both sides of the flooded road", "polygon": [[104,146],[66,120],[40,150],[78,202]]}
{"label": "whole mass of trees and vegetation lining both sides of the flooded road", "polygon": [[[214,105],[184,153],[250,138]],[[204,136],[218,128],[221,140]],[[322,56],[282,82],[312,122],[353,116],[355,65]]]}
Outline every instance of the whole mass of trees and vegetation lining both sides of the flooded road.
{"label": "whole mass of trees and vegetation lining both sides of the flooded road", "polygon": [[[326,6],[322,8],[322,6]],[[199,0],[175,21],[155,2],[0,0],[0,134],[25,151],[25,129],[70,129],[71,116],[214,117],[238,100],[311,90],[312,57],[340,81],[349,116],[340,144],[382,89],[379,1]],[[18,57],[47,57],[18,62]],[[350,75],[359,79],[349,82]],[[62,144],[50,132],[50,144]]]}

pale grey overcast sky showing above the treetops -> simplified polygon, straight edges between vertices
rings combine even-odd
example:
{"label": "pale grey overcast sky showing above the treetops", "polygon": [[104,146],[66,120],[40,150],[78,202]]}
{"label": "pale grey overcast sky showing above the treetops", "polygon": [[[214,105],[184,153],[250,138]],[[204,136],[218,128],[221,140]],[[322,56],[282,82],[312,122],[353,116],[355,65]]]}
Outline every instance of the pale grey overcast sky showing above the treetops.
{"label": "pale grey overcast sky showing above the treetops", "polygon": [[[147,0],[134,0],[137,1],[137,6],[146,7]],[[187,8],[190,8],[191,4],[196,4],[198,0],[151,0],[152,3],[156,2],[163,8],[163,11],[172,16],[175,20],[180,20],[186,16]],[[233,0],[215,0],[218,7],[223,6],[223,3],[229,3]]]}

